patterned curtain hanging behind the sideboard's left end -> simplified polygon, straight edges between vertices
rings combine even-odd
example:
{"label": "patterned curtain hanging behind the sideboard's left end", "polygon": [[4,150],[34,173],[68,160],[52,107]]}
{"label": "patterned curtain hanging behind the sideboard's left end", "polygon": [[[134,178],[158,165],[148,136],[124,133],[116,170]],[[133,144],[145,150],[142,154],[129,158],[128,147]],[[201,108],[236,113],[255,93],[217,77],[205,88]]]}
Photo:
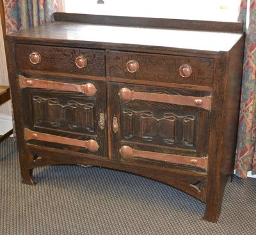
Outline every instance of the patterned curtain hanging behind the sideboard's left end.
{"label": "patterned curtain hanging behind the sideboard's left end", "polygon": [[4,0],[6,33],[53,20],[56,0]]}

